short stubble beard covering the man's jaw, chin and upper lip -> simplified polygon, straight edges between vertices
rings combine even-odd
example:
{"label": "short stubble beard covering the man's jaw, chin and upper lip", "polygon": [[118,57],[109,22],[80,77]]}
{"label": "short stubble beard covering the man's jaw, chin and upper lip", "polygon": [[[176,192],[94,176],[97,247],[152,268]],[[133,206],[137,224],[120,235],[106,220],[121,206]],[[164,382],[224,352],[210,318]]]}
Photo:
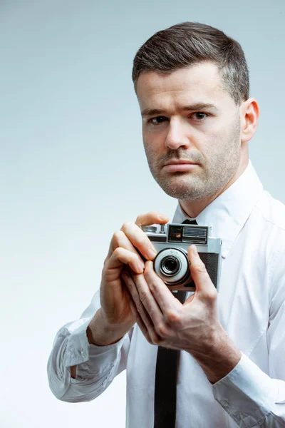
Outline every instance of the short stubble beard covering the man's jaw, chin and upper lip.
{"label": "short stubble beard covering the man's jaw, chin and upper lip", "polygon": [[[226,187],[239,168],[240,118],[237,117],[232,132],[224,141],[217,143],[217,150],[208,159],[199,151],[191,152],[190,158],[190,154],[180,148],[168,151],[157,161],[155,151],[150,149],[145,153],[153,178],[167,195],[185,202],[212,198]],[[187,159],[198,165],[190,173],[165,173],[162,166],[173,158]]]}

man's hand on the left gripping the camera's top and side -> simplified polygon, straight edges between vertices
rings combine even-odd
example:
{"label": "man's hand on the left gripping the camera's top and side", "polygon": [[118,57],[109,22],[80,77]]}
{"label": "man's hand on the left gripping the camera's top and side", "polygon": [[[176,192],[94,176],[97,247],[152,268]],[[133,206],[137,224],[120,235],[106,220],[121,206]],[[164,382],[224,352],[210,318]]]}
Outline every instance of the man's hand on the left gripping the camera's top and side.
{"label": "man's hand on the left gripping the camera's top and side", "polygon": [[114,233],[108,256],[105,259],[100,285],[101,308],[90,322],[87,335],[90,343],[109,345],[117,342],[134,325],[135,317],[130,309],[128,289],[122,280],[123,268],[137,274],[145,269],[145,260],[156,255],[141,225],[167,223],[168,218],[157,212],[139,215],[135,223],[124,223]]}

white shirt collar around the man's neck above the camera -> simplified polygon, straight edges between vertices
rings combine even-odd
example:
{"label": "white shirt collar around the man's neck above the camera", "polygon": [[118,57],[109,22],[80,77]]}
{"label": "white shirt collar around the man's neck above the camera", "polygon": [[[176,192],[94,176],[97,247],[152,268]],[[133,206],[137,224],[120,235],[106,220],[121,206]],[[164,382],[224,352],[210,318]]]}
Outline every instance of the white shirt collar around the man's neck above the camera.
{"label": "white shirt collar around the man's neck above the camera", "polygon": [[[222,257],[226,258],[234,240],[249,218],[254,205],[261,197],[263,186],[256,170],[249,161],[244,173],[221,195],[207,205],[196,221],[209,226],[209,236],[222,239]],[[182,223],[190,217],[177,205],[173,223]]]}

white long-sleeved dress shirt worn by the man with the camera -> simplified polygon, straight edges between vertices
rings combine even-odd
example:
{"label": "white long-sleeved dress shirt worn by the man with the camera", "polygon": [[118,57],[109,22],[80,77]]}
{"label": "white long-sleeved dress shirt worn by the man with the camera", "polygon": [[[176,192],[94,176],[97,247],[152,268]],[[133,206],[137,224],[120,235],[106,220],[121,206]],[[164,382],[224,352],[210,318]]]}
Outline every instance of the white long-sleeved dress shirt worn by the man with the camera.
{"label": "white long-sleeved dress shirt worn by the man with the camera", "polygon": [[[178,204],[173,223],[186,218]],[[181,352],[176,428],[285,427],[285,206],[263,190],[249,161],[196,220],[222,238],[219,322],[242,359],[211,384]],[[98,307],[97,292],[81,319],[58,331],[48,360],[51,391],[66,402],[90,401],[126,369],[126,427],[152,428],[157,346],[138,325],[114,345],[89,345],[86,328]]]}

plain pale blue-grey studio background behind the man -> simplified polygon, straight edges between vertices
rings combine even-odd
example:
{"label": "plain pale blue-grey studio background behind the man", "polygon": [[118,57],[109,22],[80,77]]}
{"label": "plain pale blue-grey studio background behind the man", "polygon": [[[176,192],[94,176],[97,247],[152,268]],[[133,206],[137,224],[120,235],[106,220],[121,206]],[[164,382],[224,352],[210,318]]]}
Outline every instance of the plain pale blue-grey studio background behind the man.
{"label": "plain pale blue-grey studio background behind the man", "polygon": [[125,374],[67,404],[46,362],[98,289],[115,230],[175,210],[148,170],[131,81],[153,33],[200,21],[242,44],[261,108],[250,155],[285,202],[284,13],[283,0],[1,0],[1,427],[125,427]]}

